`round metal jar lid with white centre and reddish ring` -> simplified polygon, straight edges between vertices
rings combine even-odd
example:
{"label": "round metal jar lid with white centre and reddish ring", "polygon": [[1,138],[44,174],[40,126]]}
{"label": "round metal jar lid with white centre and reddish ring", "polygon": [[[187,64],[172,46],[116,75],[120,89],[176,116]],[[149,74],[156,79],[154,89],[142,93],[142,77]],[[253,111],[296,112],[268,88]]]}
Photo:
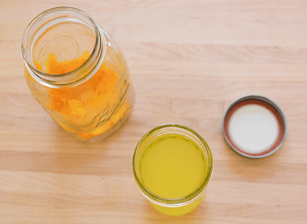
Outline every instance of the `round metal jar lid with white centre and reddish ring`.
{"label": "round metal jar lid with white centre and reddish ring", "polygon": [[267,97],[243,96],[227,108],[223,117],[223,135],[237,153],[262,158],[276,152],[286,139],[286,117]]}

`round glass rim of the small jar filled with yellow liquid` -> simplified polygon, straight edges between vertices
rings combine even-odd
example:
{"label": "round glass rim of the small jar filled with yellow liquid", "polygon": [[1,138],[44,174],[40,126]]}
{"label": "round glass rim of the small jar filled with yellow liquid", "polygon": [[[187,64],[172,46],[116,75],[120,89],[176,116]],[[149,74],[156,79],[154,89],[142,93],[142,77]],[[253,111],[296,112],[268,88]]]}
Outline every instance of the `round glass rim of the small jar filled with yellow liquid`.
{"label": "round glass rim of the small jar filled with yellow liquid", "polygon": [[[204,181],[192,193],[190,193],[190,194],[188,194],[184,197],[180,197],[180,198],[164,198],[164,197],[160,197],[157,194],[151,192],[142,183],[141,176],[140,176],[140,173],[139,173],[139,168],[138,168],[139,157],[140,157],[140,154],[141,154],[140,151],[142,151],[145,148],[145,146],[149,143],[149,141],[151,140],[149,138],[152,135],[155,135],[155,134],[158,134],[158,133],[161,133],[161,135],[164,135],[164,133],[169,133],[168,132],[169,130],[175,130],[175,131],[181,131],[182,130],[186,133],[189,133],[192,137],[194,137],[195,140],[198,141],[198,145],[201,146],[201,149],[203,150],[203,155],[205,156],[206,163],[207,163],[206,164],[207,173],[205,174]],[[176,133],[179,133],[179,132],[176,132]],[[155,137],[153,137],[153,138],[155,138]],[[198,132],[194,131],[193,129],[191,129],[187,126],[184,126],[184,125],[180,125],[180,124],[164,124],[164,125],[158,126],[154,129],[150,130],[139,141],[139,143],[138,143],[138,145],[135,149],[134,155],[133,155],[133,172],[134,172],[134,177],[135,177],[138,188],[140,189],[142,194],[147,199],[149,199],[150,201],[152,201],[155,204],[162,205],[162,206],[179,207],[179,206],[189,204],[192,201],[198,199],[200,196],[202,196],[202,193],[204,192],[204,190],[208,186],[208,184],[211,180],[212,171],[213,171],[213,157],[212,157],[211,150],[210,150],[208,144],[206,143],[206,141],[204,140],[204,138]]]}

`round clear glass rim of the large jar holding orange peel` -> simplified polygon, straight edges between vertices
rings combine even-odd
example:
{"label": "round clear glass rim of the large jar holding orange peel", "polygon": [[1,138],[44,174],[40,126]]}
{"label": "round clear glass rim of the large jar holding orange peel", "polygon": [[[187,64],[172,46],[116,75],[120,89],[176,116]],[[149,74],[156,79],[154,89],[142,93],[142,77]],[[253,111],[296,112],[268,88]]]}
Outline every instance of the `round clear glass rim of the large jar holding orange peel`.
{"label": "round clear glass rim of the large jar holding orange peel", "polygon": [[[75,15],[81,16],[84,19],[86,19],[86,21],[88,21],[89,23],[87,25],[91,26],[91,29],[94,31],[95,33],[95,45],[94,45],[94,49],[90,55],[90,57],[82,64],[80,65],[77,69],[68,72],[68,73],[63,73],[63,74],[49,74],[49,73],[45,73],[43,71],[40,71],[36,68],[36,66],[31,62],[31,60],[28,57],[27,54],[27,50],[26,50],[26,46],[28,43],[28,38],[31,32],[33,32],[35,26],[38,26],[38,23],[41,22],[43,19],[47,18],[48,16],[52,16],[56,13],[73,13]],[[67,16],[65,16],[65,18],[67,18]],[[45,25],[45,24],[44,24]],[[39,27],[37,31],[34,30],[34,34],[37,35],[37,33],[39,33],[40,30],[43,30],[45,27]],[[101,51],[101,53],[99,52]],[[39,15],[37,15],[32,21],[31,23],[28,25],[28,27],[25,30],[25,33],[23,35],[23,39],[21,41],[21,55],[23,56],[25,62],[26,62],[26,67],[29,71],[30,69],[30,73],[31,75],[35,75],[36,81],[40,82],[41,84],[47,85],[49,87],[57,87],[57,85],[59,86],[65,86],[65,85],[71,85],[71,82],[69,82],[69,78],[72,76],[75,76],[76,74],[79,74],[81,72],[84,72],[87,68],[89,67],[93,67],[93,64],[96,63],[96,61],[99,61],[99,65],[94,66],[94,69],[90,70],[90,73],[93,75],[95,74],[96,70],[100,67],[102,61],[104,60],[104,56],[105,56],[105,39],[104,39],[104,35],[101,34],[101,32],[99,31],[99,27],[98,25],[95,23],[95,21],[91,18],[91,16],[89,16],[88,14],[86,14],[85,12],[77,9],[77,8],[73,8],[73,7],[55,7],[55,8],[51,8],[48,9],[42,13],[40,13]],[[97,59],[98,58],[98,59]],[[92,68],[91,67],[91,68]],[[95,71],[95,72],[93,72]],[[59,79],[63,79],[66,80],[68,79],[68,83],[64,83],[64,84],[56,84],[56,82],[51,81],[51,83],[47,83],[45,81],[50,81],[50,79],[55,79],[55,78],[59,78]],[[82,77],[82,81],[80,82],[81,79],[77,80],[77,84],[83,83],[86,80],[88,80],[90,77],[86,77],[84,79],[84,77]],[[77,85],[76,83],[74,84]]]}

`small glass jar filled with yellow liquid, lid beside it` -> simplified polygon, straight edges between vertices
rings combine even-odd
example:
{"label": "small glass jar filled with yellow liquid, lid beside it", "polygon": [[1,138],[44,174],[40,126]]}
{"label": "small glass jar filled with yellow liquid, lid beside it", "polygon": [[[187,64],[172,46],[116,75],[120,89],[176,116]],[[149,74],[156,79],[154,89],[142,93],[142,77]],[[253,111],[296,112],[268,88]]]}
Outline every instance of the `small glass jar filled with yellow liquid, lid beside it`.
{"label": "small glass jar filled with yellow liquid, lid beside it", "polygon": [[[161,143],[165,141],[163,140],[164,137],[167,137],[167,141],[169,141],[172,145],[162,145]],[[184,141],[180,140],[181,142],[176,143],[177,137],[183,138]],[[182,149],[186,147],[184,144],[194,145],[199,149],[199,152],[195,154],[195,151],[188,150],[184,152],[185,154],[182,153]],[[181,145],[184,146],[181,148]],[[173,149],[171,149],[171,147],[173,147]],[[179,153],[182,154],[179,155]],[[196,157],[198,156],[198,158],[188,158],[190,154],[194,154]],[[144,161],[142,162],[142,160]],[[163,163],[168,163],[168,161],[169,164],[166,165],[169,166],[167,167]],[[173,161],[175,161],[175,163],[173,163]],[[184,179],[184,175],[190,176],[190,174],[183,174],[183,169],[190,169],[191,166],[194,166],[194,163],[200,163],[199,161],[203,161],[205,165],[195,165],[194,168],[191,168],[190,172],[192,172],[192,177],[189,179],[190,181],[186,181]],[[147,169],[147,167],[141,165],[142,163],[146,163],[146,166],[152,166],[150,163],[156,162],[158,164],[156,166],[157,169],[161,169],[160,172],[158,170],[154,170],[152,172]],[[179,163],[180,166],[182,165],[183,168],[178,166],[177,163]],[[168,172],[168,169],[173,169],[175,170],[174,172],[178,171],[180,173],[171,173],[173,171]],[[133,173],[139,190],[149,200],[149,203],[155,209],[171,216],[180,216],[189,213],[201,203],[204,196],[204,191],[211,180],[212,171],[213,158],[206,141],[196,131],[178,124],[165,124],[146,133],[146,135],[138,143],[133,156]],[[163,178],[159,178],[159,175],[164,175],[164,173],[167,174],[165,174]],[[146,178],[145,175],[147,175]],[[172,176],[176,175],[178,175],[179,179],[183,179],[180,181],[183,185],[185,185],[185,188],[189,187],[189,184],[192,184],[192,182],[198,184],[193,185],[193,188],[190,188],[193,190],[189,191],[188,194],[175,197],[175,194],[172,194],[172,191],[180,192],[180,189],[183,188],[182,184],[177,184],[176,182],[176,186],[171,186],[168,191],[168,194],[172,194],[172,196],[166,197],[165,195],[167,193],[165,193],[166,191],[164,189],[169,188],[167,183],[174,183],[172,181],[168,181],[170,178],[172,178]],[[198,179],[198,176],[203,177]],[[196,179],[198,181],[195,181]],[[161,180],[164,180],[164,183],[158,183]],[[162,194],[164,194],[164,196],[161,196]]]}

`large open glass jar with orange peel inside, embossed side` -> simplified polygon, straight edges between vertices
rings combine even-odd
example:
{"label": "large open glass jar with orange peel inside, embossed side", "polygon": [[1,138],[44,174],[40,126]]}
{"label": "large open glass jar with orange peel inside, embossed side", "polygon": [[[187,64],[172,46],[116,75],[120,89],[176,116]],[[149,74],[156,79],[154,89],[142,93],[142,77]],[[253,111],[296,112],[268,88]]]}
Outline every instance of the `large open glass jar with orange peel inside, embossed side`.
{"label": "large open glass jar with orange peel inside, embossed side", "polygon": [[86,13],[41,13],[25,31],[21,54],[33,96],[78,139],[99,141],[127,120],[135,98],[125,57]]}

